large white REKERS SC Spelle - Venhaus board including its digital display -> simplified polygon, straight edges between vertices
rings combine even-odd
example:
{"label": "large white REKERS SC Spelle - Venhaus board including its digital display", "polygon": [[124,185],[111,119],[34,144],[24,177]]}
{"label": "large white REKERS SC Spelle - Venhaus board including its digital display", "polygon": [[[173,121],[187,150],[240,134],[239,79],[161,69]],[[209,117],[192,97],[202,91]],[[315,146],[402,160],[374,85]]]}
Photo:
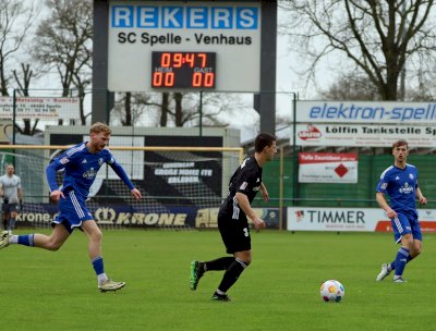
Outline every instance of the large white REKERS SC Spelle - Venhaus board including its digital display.
{"label": "large white REKERS SC Spelle - Venhaus board including its digital display", "polygon": [[111,91],[261,88],[259,1],[109,1]]}

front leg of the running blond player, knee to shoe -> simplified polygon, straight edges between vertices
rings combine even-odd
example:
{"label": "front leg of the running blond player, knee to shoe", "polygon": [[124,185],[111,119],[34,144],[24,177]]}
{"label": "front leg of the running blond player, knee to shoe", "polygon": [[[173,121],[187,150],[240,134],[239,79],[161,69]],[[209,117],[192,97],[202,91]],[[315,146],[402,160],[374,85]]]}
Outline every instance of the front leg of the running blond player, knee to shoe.
{"label": "front leg of the running blond player, knee to shoe", "polygon": [[97,274],[98,290],[106,292],[122,289],[125,285],[124,282],[111,281],[105,272],[105,265],[101,254],[102,234],[97,223],[94,220],[86,220],[82,223],[82,229],[88,237],[89,257],[93,268]]}

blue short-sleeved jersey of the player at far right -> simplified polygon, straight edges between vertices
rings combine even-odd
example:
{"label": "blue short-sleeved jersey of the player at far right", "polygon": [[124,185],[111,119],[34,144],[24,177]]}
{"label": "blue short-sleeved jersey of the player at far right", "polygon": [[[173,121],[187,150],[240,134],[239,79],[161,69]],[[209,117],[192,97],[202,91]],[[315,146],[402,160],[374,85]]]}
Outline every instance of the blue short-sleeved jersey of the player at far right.
{"label": "blue short-sleeved jersey of the player at far right", "polygon": [[417,169],[405,164],[404,169],[395,166],[386,169],[377,184],[377,192],[390,198],[390,208],[417,218],[416,212]]}

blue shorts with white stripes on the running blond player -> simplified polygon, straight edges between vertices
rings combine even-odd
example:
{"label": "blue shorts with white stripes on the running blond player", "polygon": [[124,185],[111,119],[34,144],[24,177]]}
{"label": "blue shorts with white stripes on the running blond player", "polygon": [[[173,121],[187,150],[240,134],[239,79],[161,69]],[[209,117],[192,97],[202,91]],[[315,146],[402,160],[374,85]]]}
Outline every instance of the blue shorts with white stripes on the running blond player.
{"label": "blue shorts with white stripes on the running blond player", "polygon": [[93,214],[88,211],[85,200],[70,191],[64,193],[65,198],[60,198],[59,213],[52,224],[63,224],[66,231],[72,233],[74,228],[82,226],[82,222],[93,220]]}

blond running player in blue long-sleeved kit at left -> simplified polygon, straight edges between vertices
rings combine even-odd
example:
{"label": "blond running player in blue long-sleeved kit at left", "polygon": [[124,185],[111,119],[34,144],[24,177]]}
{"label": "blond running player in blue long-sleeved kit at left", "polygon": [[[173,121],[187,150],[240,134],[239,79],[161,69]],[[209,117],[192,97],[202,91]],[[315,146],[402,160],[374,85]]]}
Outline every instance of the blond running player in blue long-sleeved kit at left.
{"label": "blond running player in blue long-sleeved kit at left", "polygon": [[[90,261],[97,274],[98,290],[100,292],[117,291],[122,289],[124,282],[111,281],[105,272],[101,254],[101,231],[87,210],[85,200],[88,196],[98,170],[108,163],[118,176],[129,186],[134,198],[141,199],[142,195],[129,180],[123,168],[116,161],[106,147],[109,143],[111,128],[104,123],[95,123],[89,130],[89,140],[78,144],[66,150],[46,169],[50,197],[59,201],[60,212],[55,219],[51,234],[10,235],[3,232],[0,237],[0,248],[11,244],[39,247],[48,250],[58,250],[70,237],[75,228],[80,228],[88,237]],[[56,173],[63,172],[62,188],[58,187]]]}

